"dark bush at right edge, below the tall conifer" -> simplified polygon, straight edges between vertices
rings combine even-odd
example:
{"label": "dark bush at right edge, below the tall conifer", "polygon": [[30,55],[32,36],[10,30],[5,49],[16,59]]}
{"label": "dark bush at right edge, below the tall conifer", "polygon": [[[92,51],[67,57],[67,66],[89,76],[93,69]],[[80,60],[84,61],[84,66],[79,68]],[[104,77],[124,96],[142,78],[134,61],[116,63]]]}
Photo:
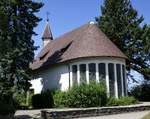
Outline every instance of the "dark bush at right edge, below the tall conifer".
{"label": "dark bush at right edge, below the tall conifer", "polygon": [[150,101],[150,83],[143,83],[135,86],[131,92],[131,96],[134,96],[139,101]]}

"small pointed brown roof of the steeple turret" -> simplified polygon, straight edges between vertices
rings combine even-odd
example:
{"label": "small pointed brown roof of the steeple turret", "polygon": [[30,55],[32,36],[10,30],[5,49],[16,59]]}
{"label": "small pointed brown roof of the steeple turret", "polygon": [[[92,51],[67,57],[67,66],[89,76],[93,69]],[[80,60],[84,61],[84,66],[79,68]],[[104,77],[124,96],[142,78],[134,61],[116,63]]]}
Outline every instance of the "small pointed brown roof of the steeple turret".
{"label": "small pointed brown roof of the steeple turret", "polygon": [[50,29],[48,22],[47,22],[46,27],[44,29],[42,39],[52,39],[53,40],[53,35],[52,35],[52,32],[51,32],[51,29]]}

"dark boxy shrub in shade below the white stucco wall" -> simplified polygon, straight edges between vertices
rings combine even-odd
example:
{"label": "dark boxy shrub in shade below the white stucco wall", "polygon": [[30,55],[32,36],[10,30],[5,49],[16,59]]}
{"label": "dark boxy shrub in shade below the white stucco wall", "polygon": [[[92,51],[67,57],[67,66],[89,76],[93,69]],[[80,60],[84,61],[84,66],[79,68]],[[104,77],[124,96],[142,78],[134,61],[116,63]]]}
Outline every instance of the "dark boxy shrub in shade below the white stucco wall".
{"label": "dark boxy shrub in shade below the white stucco wall", "polygon": [[32,106],[35,109],[40,108],[52,108],[53,107],[53,96],[51,91],[42,92],[32,96]]}

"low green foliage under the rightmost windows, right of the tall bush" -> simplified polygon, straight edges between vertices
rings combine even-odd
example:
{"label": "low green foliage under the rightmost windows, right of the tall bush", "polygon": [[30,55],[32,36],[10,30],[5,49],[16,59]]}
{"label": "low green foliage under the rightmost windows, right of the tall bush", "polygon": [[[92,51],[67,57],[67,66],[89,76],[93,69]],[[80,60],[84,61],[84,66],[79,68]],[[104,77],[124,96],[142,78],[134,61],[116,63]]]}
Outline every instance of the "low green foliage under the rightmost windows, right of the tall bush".
{"label": "low green foliage under the rightmost windows, right of the tall bush", "polygon": [[107,106],[123,106],[136,103],[138,101],[134,97],[120,97],[119,99],[111,97],[108,99]]}

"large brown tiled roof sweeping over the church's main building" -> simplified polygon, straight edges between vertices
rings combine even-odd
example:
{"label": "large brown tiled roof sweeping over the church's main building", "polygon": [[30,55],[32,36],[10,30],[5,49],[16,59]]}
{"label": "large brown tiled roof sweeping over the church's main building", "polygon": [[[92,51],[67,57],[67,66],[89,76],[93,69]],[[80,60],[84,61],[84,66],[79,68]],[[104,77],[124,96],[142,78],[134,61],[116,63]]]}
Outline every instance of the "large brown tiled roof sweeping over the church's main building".
{"label": "large brown tiled roof sweeping over the church's main building", "polygon": [[127,58],[96,24],[86,24],[47,44],[31,65],[33,70],[86,57]]}

